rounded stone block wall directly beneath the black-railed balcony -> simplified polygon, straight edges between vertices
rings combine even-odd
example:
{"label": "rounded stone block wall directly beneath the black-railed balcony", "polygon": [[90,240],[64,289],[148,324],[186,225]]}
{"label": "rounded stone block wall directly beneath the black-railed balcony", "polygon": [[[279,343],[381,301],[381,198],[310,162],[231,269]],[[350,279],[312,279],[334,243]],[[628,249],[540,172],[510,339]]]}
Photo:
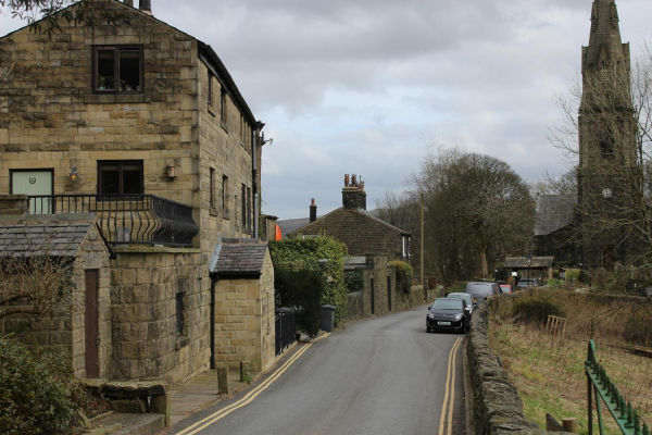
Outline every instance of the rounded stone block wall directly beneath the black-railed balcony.
{"label": "rounded stone block wall directly beneath the black-railed balcony", "polygon": [[[208,368],[210,279],[199,249],[116,248],[111,320],[115,380],[179,383]],[[177,333],[177,294],[184,326]]]}

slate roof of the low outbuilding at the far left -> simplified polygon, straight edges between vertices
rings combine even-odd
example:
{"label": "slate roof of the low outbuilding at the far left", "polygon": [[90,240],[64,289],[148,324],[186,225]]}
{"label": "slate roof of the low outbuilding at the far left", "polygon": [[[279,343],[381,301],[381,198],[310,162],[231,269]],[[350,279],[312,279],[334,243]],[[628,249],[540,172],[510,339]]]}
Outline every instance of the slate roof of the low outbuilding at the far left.
{"label": "slate roof of the low outbuilding at the far left", "polygon": [[0,257],[74,257],[93,223],[62,222],[55,216],[35,221],[15,216],[0,221]]}

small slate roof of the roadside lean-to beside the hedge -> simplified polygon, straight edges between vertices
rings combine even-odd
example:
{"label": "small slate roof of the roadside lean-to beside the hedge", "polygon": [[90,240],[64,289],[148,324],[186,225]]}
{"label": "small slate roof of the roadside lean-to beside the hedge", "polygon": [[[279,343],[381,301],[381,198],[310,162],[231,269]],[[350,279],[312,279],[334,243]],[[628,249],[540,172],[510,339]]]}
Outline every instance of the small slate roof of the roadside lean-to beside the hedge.
{"label": "small slate roof of the roadside lean-to beside the hedge", "polygon": [[266,253],[267,244],[264,241],[224,238],[215,247],[211,272],[218,275],[260,275]]}

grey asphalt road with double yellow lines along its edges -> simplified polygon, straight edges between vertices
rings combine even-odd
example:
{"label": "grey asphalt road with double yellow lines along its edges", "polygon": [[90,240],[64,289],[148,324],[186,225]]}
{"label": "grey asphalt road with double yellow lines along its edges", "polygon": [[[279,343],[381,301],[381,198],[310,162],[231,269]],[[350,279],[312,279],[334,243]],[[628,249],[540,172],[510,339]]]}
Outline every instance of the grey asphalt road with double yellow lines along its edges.
{"label": "grey asphalt road with double yellow lines along its edges", "polygon": [[427,334],[426,313],[424,306],[358,321],[301,345],[255,385],[171,433],[462,435],[464,336]]}

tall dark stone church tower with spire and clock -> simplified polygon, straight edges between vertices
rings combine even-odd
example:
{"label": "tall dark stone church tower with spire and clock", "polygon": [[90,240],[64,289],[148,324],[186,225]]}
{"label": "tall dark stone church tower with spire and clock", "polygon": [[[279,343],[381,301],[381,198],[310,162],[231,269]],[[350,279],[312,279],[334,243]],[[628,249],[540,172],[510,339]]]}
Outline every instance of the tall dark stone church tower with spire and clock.
{"label": "tall dark stone church tower with spire and clock", "polygon": [[620,39],[615,0],[593,1],[581,73],[577,241],[584,268],[612,270],[628,256],[630,241],[623,227],[605,222],[628,217],[627,201],[634,190],[624,177],[636,166],[637,142],[629,44]]}

